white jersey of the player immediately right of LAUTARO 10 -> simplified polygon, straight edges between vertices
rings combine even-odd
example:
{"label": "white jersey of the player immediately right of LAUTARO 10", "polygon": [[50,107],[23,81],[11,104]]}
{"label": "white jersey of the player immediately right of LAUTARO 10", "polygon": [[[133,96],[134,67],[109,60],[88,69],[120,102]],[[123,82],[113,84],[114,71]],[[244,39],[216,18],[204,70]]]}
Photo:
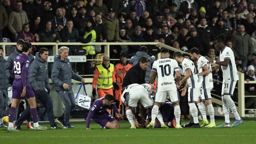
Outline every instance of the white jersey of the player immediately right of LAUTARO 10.
{"label": "white jersey of the player immediately right of LAUTARO 10", "polygon": [[194,63],[190,59],[183,58],[182,61],[182,70],[184,72],[184,75],[186,75],[186,70],[190,69],[192,75],[187,79],[188,85],[191,88],[201,88],[201,83],[199,81],[199,78],[197,76],[196,67]]}

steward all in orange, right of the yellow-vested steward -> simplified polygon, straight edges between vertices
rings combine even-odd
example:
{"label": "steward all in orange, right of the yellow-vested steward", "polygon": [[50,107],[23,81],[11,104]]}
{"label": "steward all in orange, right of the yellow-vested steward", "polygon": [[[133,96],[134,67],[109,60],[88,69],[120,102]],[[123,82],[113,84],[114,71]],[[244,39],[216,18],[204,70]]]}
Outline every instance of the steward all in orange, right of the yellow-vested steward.
{"label": "steward all in orange, right of the yellow-vested steward", "polygon": [[127,61],[127,58],[128,55],[126,53],[121,53],[120,63],[116,64],[114,68],[116,83],[114,83],[113,85],[115,87],[115,100],[119,101],[119,107],[117,107],[118,109],[120,109],[120,106],[122,105],[121,90],[124,81],[124,76],[127,73],[127,71],[132,67],[132,64],[130,64]]}

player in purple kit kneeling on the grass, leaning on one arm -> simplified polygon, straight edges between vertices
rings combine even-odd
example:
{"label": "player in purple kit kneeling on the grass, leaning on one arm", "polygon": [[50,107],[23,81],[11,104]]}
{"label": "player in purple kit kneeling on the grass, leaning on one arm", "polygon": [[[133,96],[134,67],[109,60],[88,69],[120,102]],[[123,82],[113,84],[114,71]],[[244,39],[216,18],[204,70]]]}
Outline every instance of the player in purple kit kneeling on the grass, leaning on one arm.
{"label": "player in purple kit kneeling on the grass, leaning on one arm", "polygon": [[105,97],[99,98],[93,102],[92,108],[86,118],[86,129],[90,129],[90,120],[93,119],[101,127],[106,127],[110,129],[120,128],[117,120],[107,112],[107,108],[110,106],[116,113],[118,113],[120,118],[123,115],[119,113],[115,104],[113,104],[115,97],[111,94],[106,94]]}

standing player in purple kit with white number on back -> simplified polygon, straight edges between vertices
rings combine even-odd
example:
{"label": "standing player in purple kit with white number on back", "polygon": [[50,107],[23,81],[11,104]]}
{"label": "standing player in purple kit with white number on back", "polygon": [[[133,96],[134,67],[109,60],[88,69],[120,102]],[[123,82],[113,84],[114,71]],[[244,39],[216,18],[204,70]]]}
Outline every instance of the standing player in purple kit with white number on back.
{"label": "standing player in purple kit with white number on back", "polygon": [[25,99],[30,105],[30,113],[33,119],[34,130],[45,130],[47,127],[42,127],[37,122],[37,110],[35,94],[28,82],[28,69],[30,61],[28,55],[31,53],[32,45],[29,42],[25,42],[22,46],[22,53],[17,55],[13,62],[12,74],[14,75],[14,81],[12,84],[12,104],[9,109],[9,126],[7,130],[9,132],[18,131],[13,126],[13,119],[15,115],[15,108],[19,104],[20,99]]}

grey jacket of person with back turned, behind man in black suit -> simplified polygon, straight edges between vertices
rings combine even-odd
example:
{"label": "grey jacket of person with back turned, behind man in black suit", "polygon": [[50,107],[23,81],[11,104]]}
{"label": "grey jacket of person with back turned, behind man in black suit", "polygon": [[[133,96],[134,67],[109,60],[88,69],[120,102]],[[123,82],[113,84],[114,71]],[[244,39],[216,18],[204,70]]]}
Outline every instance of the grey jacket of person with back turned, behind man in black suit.
{"label": "grey jacket of person with back turned, behind man in black suit", "polygon": [[151,68],[152,68],[152,65],[153,65],[154,61],[156,60],[156,57],[155,57],[155,56],[151,56],[151,57],[150,57],[146,52],[138,51],[138,52],[136,52],[135,56],[133,56],[133,57],[131,58],[130,63],[131,63],[133,66],[135,66],[135,65],[138,63],[139,59],[140,59],[142,56],[147,56],[147,57],[150,58],[150,63],[149,63],[149,65],[148,65],[147,69],[146,69],[146,76],[145,76],[145,81],[146,81],[146,82],[149,82],[149,81],[150,81],[150,80],[149,80],[150,71],[151,71]]}

